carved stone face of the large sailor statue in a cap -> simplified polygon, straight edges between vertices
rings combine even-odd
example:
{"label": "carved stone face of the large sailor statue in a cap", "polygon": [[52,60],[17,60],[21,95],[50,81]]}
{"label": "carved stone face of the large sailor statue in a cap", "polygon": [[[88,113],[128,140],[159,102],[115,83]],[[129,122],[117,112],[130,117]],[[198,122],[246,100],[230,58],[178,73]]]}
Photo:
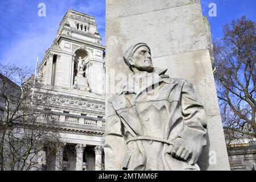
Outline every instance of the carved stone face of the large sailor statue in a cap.
{"label": "carved stone face of the large sailor statue in a cap", "polygon": [[150,50],[146,46],[139,47],[131,56],[129,63],[140,71],[151,71],[153,65]]}

